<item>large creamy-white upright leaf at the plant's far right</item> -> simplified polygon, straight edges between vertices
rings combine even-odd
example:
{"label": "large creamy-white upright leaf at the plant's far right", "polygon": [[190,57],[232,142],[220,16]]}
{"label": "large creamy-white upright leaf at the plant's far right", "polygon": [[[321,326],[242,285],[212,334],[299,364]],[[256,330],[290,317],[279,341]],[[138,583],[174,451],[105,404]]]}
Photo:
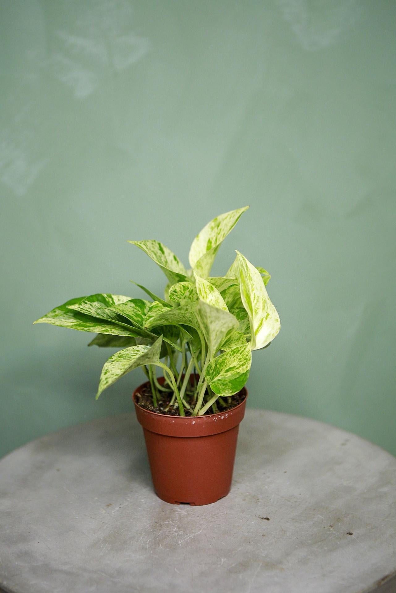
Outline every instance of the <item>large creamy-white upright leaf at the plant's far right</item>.
{"label": "large creamy-white upright leaf at the plant's far right", "polygon": [[261,274],[242,253],[239,258],[240,297],[251,324],[251,348],[264,348],[280,330],[277,310],[268,297]]}

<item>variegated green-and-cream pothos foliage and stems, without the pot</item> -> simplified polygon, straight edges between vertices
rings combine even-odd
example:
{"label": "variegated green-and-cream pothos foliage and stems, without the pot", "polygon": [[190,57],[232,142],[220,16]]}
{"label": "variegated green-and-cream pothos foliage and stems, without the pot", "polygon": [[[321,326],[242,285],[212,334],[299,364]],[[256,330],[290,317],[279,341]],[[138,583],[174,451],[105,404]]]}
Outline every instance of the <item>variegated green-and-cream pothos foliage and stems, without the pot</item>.
{"label": "variegated green-and-cream pothos foliage and stems, without the pot", "polygon": [[[160,241],[129,241],[163,270],[164,298],[137,284],[151,300],[94,294],[65,302],[34,321],[91,331],[89,346],[119,347],[104,364],[96,397],[132,369],[148,377],[153,406],[166,398],[180,416],[216,412],[216,400],[245,385],[252,350],[268,346],[280,330],[267,294],[271,276],[242,253],[224,276],[210,276],[224,238],[248,209],[217,216],[198,233],[189,251],[190,269]],[[136,284],[136,283],[135,283]],[[164,382],[156,374],[160,368]],[[194,385],[189,381],[194,373]],[[198,378],[199,377],[199,378]],[[223,400],[220,399],[223,403]]]}

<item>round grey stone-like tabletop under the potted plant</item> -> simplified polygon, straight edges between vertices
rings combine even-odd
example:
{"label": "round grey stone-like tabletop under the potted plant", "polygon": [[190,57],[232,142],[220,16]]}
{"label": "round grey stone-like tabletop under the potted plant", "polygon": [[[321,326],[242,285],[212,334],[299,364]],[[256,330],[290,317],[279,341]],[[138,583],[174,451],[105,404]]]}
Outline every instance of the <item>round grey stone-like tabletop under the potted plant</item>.
{"label": "round grey stone-like tabletop under the potted plant", "polygon": [[135,414],[103,418],[0,461],[0,588],[391,593],[395,502],[392,455],[313,420],[248,410],[230,494],[170,505],[153,492]]}

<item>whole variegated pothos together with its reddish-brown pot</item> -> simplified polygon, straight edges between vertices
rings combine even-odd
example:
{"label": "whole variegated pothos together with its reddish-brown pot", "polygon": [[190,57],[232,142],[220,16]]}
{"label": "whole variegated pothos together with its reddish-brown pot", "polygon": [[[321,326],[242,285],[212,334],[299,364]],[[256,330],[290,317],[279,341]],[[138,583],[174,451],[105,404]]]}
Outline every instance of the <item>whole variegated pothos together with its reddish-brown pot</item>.
{"label": "whole variegated pothos together with its reddish-brown pot", "polygon": [[220,244],[247,208],[208,222],[192,242],[191,269],[159,241],[129,241],[163,270],[164,298],[138,284],[151,300],[94,294],[34,322],[91,331],[97,336],[88,346],[121,348],[104,364],[96,398],[143,369],[147,382],[133,400],[154,489],[167,502],[205,505],[229,492],[252,350],[280,330],[264,268],[236,251],[226,275],[210,276]]}

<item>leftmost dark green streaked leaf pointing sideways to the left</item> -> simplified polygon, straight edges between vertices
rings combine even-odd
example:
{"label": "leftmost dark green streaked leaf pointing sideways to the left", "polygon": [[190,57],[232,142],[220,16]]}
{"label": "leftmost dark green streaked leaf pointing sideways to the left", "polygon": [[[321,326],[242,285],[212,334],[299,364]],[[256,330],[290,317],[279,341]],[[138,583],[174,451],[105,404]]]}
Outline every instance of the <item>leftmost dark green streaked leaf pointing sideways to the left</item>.
{"label": "leftmost dark green streaked leaf pointing sideways to the left", "polygon": [[112,334],[113,336],[136,337],[140,335],[132,326],[131,329],[128,329],[128,327],[119,325],[113,321],[97,319],[70,308],[71,305],[76,305],[86,298],[80,297],[66,301],[63,305],[55,307],[55,309],[52,309],[52,311],[49,311],[49,313],[34,321],[34,323],[49,323],[53,326],[69,327],[80,331],[92,331],[93,333]]}

